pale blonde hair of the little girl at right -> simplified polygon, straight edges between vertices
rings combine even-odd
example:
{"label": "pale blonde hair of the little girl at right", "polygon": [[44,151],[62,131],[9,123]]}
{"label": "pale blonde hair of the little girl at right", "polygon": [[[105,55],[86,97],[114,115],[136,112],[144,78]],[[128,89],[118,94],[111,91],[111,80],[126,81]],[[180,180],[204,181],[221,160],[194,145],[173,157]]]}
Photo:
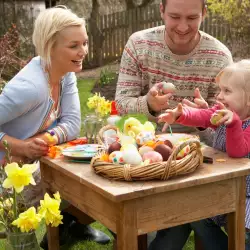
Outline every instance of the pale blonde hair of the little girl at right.
{"label": "pale blonde hair of the little girl at right", "polygon": [[241,88],[245,93],[246,103],[250,104],[250,60],[244,59],[236,63],[232,63],[225,67],[217,76],[216,82],[223,80],[227,82],[230,77],[235,77],[236,86]]}

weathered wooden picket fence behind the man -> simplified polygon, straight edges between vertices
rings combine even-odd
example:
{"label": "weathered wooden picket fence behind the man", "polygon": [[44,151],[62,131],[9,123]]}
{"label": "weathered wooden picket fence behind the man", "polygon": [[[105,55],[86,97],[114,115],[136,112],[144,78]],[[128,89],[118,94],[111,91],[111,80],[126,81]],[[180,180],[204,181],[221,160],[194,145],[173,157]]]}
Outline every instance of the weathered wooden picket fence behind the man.
{"label": "weathered wooden picket fence behind the man", "polygon": [[[119,60],[132,33],[162,24],[159,4],[109,15],[99,15],[96,26],[102,36],[93,37],[91,34],[94,32],[89,32],[89,54],[85,62],[86,66],[101,66]],[[221,18],[207,16],[202,23],[201,30],[226,44],[227,25]],[[96,63],[96,58],[98,58],[98,63]]]}

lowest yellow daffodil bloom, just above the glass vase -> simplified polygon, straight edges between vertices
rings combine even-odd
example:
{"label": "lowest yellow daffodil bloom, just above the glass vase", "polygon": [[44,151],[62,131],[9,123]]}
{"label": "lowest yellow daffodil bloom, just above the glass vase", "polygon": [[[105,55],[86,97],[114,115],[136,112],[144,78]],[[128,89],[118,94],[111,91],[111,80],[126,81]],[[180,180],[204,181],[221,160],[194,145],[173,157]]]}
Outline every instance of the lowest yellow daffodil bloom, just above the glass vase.
{"label": "lowest yellow daffodil bloom, just above the glass vase", "polygon": [[29,232],[37,229],[41,219],[42,216],[36,213],[36,209],[30,207],[27,211],[19,214],[18,219],[14,220],[12,225],[20,228],[21,232]]}

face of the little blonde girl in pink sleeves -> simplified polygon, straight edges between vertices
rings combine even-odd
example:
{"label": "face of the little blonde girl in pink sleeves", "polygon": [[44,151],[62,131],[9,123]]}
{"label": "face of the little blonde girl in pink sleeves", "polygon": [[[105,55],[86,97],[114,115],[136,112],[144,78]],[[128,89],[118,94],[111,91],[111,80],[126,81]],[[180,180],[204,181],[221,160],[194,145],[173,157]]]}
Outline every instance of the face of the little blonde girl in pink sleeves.
{"label": "face of the little blonde girl in pink sleeves", "polygon": [[219,79],[220,93],[217,100],[222,102],[227,109],[234,111],[241,120],[249,116],[246,93],[240,84],[237,84],[236,76],[231,75],[228,79],[223,76]]}

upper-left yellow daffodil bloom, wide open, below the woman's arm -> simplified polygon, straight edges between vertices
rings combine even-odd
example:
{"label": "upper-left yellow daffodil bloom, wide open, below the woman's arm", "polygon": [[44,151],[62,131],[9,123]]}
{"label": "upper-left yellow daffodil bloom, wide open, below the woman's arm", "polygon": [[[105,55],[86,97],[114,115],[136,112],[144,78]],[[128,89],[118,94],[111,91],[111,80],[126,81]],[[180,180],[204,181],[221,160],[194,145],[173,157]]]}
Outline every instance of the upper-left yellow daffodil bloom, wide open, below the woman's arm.
{"label": "upper-left yellow daffodil bloom, wide open, below the woman's arm", "polygon": [[37,168],[36,164],[24,164],[22,167],[19,167],[16,162],[7,164],[4,168],[7,178],[3,182],[3,187],[13,187],[17,193],[20,193],[25,186],[36,185],[32,174]]}

